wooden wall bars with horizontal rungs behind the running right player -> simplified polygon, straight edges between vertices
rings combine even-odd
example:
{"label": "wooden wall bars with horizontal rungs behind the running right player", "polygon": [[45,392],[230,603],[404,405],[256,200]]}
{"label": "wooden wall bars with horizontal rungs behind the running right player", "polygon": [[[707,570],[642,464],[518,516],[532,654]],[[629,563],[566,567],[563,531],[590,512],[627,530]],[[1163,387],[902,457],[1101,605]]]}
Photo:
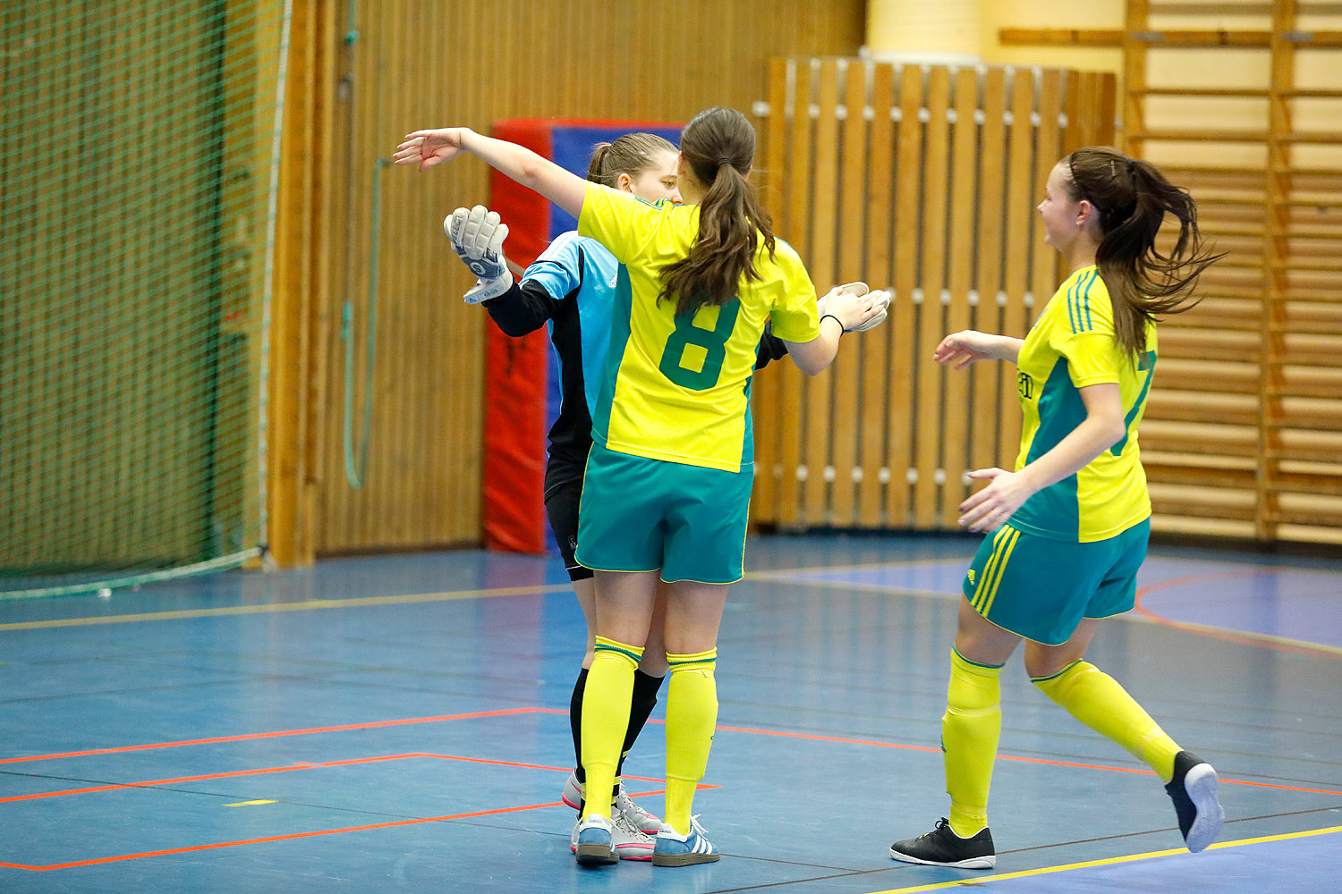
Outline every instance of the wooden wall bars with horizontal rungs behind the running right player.
{"label": "wooden wall bars with horizontal rungs behind the running right player", "polygon": [[[1327,500],[1342,491],[1342,406],[1327,401],[1342,402],[1342,343],[1329,340],[1342,315],[1342,7],[1123,7],[1122,29],[1019,36],[1122,48],[1126,150],[1188,188],[1228,252],[1201,277],[1201,306],[1162,330],[1142,426],[1153,529],[1339,544]],[[1111,142],[1103,103],[1068,145]]]}

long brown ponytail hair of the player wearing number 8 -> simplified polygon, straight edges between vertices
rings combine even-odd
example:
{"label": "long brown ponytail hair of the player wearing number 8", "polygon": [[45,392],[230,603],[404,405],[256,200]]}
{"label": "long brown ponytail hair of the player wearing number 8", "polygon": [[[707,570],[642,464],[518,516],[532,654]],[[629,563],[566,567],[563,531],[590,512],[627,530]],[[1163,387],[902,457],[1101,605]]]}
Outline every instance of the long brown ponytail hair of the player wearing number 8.
{"label": "long brown ponytail hair of the player wearing number 8", "polygon": [[690,255],[662,268],[658,303],[675,300],[678,316],[735,298],[742,276],[760,279],[760,240],[770,257],[774,249],[769,212],[746,182],[754,161],[754,127],[746,117],[735,109],[705,109],[680,131],[680,153],[709,192],[699,202],[699,237]]}

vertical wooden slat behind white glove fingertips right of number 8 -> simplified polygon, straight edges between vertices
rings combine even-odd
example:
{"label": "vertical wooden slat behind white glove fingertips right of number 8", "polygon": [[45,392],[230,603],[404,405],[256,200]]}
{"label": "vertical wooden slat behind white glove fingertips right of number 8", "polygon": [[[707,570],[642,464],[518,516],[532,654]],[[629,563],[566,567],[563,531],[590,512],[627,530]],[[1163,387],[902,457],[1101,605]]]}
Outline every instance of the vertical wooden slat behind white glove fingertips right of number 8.
{"label": "vertical wooden slat behind white glove fingertips right of number 8", "polygon": [[[894,157],[894,122],[890,113],[895,105],[895,71],[880,63],[871,72],[871,149],[866,214],[866,276],[872,288],[892,288],[890,275],[891,190]],[[894,311],[894,308],[891,308]],[[894,318],[862,342],[862,481],[858,487],[858,524],[874,528],[880,524],[882,491],[880,470],[886,465],[886,417],[892,411],[890,401],[890,344]],[[874,411],[872,407],[879,407]]]}

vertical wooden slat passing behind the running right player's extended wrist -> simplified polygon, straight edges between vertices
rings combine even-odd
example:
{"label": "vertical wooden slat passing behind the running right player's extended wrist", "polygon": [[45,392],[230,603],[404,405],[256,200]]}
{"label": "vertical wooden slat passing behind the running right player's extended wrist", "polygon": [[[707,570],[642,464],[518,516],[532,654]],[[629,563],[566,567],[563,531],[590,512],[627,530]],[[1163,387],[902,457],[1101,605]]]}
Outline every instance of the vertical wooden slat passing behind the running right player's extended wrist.
{"label": "vertical wooden slat passing behind the running right player's extended wrist", "polygon": [[[974,328],[982,332],[1001,332],[1002,314],[997,304],[997,294],[1002,290],[1002,232],[1007,228],[1004,208],[1009,198],[1004,194],[1004,169],[1007,165],[1007,72],[989,68],[984,76],[984,127],[980,138],[982,147],[978,158],[978,201],[980,216],[978,245],[978,306],[974,308]],[[1027,200],[1028,201],[1028,200]],[[982,469],[997,465],[997,437],[1000,414],[997,411],[998,379],[1011,375],[1012,367],[1002,363],[974,363],[969,367],[973,393],[973,430],[970,432],[969,465]]]}

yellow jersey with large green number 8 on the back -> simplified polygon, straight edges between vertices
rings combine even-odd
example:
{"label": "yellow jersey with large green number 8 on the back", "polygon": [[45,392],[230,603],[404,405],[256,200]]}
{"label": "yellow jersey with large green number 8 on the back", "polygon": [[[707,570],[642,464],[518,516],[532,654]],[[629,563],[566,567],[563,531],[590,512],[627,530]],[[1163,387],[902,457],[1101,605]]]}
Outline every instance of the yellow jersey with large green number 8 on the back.
{"label": "yellow jersey with large green number 8 on the back", "polygon": [[592,437],[617,453],[739,472],[754,462],[750,378],[765,323],[788,342],[820,334],[816,291],[790,245],[756,269],[737,298],[675,315],[658,303],[662,268],[690,253],[699,236],[694,205],[650,205],[588,184],[578,233],[623,264],[611,316],[611,350],[592,414]]}

